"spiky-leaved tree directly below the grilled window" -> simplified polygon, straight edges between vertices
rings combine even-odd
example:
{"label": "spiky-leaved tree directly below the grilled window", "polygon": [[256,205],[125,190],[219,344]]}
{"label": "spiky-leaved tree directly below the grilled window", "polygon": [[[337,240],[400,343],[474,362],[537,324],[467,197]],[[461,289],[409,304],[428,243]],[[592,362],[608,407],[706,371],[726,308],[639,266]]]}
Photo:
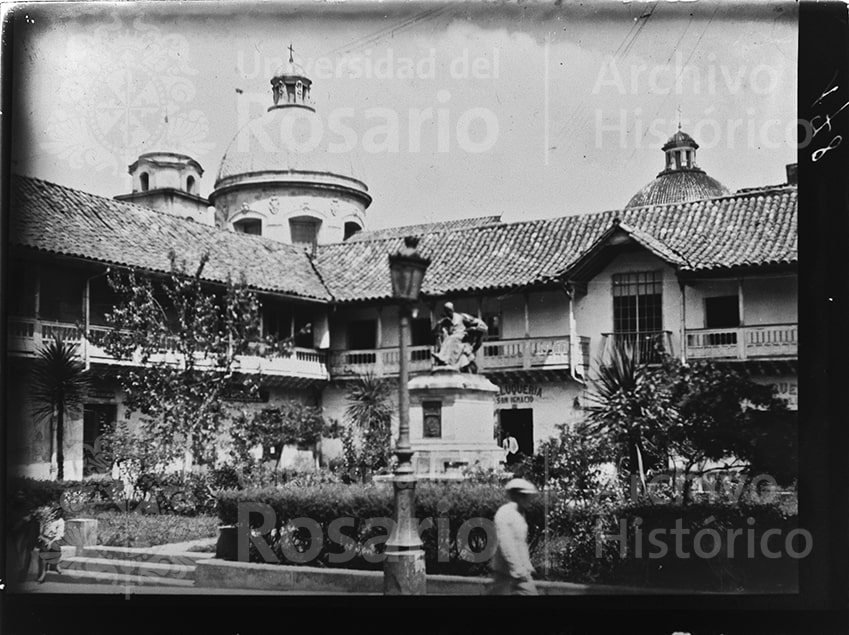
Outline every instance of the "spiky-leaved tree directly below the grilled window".
{"label": "spiky-leaved tree directly below the grilled window", "polygon": [[669,394],[627,341],[616,342],[597,368],[588,393],[586,430],[612,443],[617,463],[639,477],[645,493],[647,469],[666,457],[664,432],[674,417]]}

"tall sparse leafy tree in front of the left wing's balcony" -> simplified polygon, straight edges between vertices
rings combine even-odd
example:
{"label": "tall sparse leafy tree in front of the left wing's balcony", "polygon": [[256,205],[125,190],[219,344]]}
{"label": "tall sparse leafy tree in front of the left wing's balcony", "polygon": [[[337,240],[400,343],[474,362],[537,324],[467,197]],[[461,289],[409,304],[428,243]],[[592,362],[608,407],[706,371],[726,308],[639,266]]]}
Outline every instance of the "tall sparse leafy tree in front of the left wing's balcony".
{"label": "tall sparse leafy tree in front of the left wing's balcony", "polygon": [[238,372],[245,353],[291,354],[292,338],[260,335],[260,303],[244,280],[213,287],[202,280],[208,254],[194,273],[169,254],[171,272],[153,278],[133,269],[109,277],[119,301],[106,316],[106,351],[131,361],[118,372],[130,412],[142,415],[146,436],[163,458],[192,450],[212,460],[229,418],[225,399],[255,396],[259,377]]}

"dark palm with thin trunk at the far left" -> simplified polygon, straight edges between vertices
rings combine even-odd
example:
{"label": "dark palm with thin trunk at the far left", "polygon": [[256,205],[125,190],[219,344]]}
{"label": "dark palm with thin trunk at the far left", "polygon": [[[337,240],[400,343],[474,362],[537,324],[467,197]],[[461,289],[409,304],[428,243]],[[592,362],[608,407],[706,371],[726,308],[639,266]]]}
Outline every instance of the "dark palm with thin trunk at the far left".
{"label": "dark palm with thin trunk at the far left", "polygon": [[56,478],[65,478],[65,416],[79,412],[90,378],[77,359],[76,345],[59,335],[42,345],[33,365],[31,394],[38,418],[56,417]]}

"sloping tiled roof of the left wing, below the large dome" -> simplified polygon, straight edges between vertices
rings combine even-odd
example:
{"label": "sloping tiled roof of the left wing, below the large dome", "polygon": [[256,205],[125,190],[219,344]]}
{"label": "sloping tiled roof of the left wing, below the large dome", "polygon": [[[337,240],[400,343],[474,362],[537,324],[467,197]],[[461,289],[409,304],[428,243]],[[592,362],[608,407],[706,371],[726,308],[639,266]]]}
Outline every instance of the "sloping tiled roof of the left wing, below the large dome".
{"label": "sloping tiled roof of the left wing, below the large dome", "polygon": [[309,256],[296,247],[35,178],[14,177],[9,239],[45,252],[162,272],[170,271],[172,249],[189,267],[208,251],[204,278],[210,281],[238,279],[244,272],[255,289],[330,299]]}

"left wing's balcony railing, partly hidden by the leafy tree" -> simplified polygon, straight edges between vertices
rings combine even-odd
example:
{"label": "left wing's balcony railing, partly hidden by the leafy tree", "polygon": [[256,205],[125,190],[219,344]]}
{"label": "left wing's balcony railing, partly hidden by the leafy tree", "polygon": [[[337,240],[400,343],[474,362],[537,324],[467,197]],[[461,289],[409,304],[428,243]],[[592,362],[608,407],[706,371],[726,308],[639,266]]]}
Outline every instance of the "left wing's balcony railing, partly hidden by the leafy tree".
{"label": "left wing's balcony railing, partly hidden by the leafy tree", "polygon": [[[103,336],[109,331],[105,326],[89,327],[89,341],[86,350],[79,329],[73,325],[63,322],[48,322],[33,318],[9,318],[8,346],[9,354],[18,357],[34,357],[36,351],[45,342],[53,339],[58,334],[63,341],[77,345],[77,353],[80,357],[88,354],[88,361],[92,364],[127,365],[138,362],[128,360],[117,360],[106,353],[97,345]],[[328,379],[326,355],[324,352],[310,348],[295,348],[290,356],[279,354],[265,355],[257,345],[255,355],[240,355],[237,357],[237,372],[263,373],[278,377],[297,377],[301,379]],[[156,361],[167,361],[173,357],[175,363],[177,358],[167,342],[163,343],[161,357]]]}

